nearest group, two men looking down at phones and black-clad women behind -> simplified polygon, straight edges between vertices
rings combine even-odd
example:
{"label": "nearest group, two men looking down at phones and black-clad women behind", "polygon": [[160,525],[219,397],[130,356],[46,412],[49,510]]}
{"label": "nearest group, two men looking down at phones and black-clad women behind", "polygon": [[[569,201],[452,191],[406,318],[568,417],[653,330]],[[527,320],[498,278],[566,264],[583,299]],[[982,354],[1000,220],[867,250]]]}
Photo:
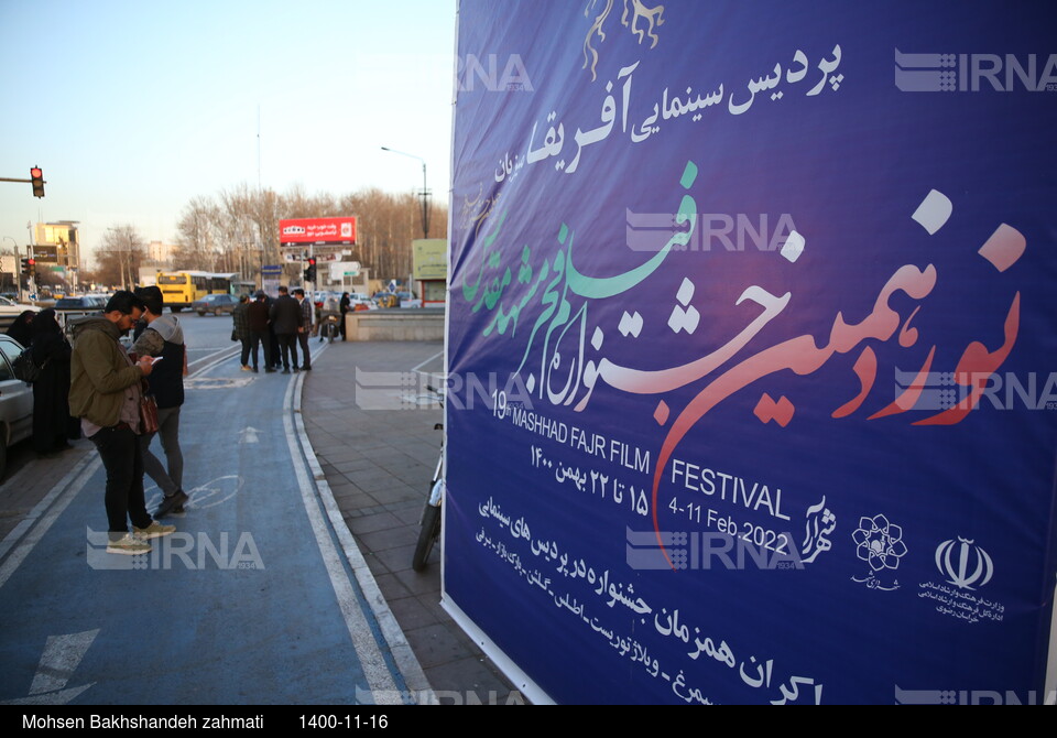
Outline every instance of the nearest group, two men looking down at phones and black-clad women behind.
{"label": "nearest group, two men looking down at phones and black-clad women behind", "polygon": [[[72,321],[73,346],[51,308],[21,315],[8,330],[29,344],[41,368],[33,383],[34,448],[51,454],[68,447],[69,439],[85,436],[99,452],[107,470],[109,553],[150,552],[148,541],[176,531],[155,518],[181,512],[188,500],[179,448],[187,351],[183,327],[163,310],[161,290],[138,287],[134,293],[116,292],[101,316]],[[133,327],[135,343],[126,351],[120,339]],[[148,427],[142,415],[144,395],[152,397],[156,406],[156,431]],[[155,433],[165,465],[150,449]],[[163,492],[153,517],[146,510],[144,473]]]}

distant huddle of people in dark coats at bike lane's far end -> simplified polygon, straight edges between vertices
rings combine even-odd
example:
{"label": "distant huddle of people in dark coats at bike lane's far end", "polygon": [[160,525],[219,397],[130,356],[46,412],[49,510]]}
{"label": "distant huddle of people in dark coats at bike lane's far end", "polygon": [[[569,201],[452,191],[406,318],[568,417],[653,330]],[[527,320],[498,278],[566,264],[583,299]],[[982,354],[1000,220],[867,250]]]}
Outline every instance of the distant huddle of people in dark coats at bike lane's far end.
{"label": "distant huddle of people in dark coats at bike lane's far end", "polygon": [[[279,297],[272,300],[259,290],[251,301],[242,295],[231,313],[235,328],[231,339],[242,344],[242,371],[260,371],[259,350],[264,347],[264,371],[283,373],[310,371],[308,337],[312,336],[315,312],[312,301],[301,287],[291,296],[285,286],[279,287]],[[301,366],[297,347],[301,346]],[[252,357],[253,363],[250,363]]]}

